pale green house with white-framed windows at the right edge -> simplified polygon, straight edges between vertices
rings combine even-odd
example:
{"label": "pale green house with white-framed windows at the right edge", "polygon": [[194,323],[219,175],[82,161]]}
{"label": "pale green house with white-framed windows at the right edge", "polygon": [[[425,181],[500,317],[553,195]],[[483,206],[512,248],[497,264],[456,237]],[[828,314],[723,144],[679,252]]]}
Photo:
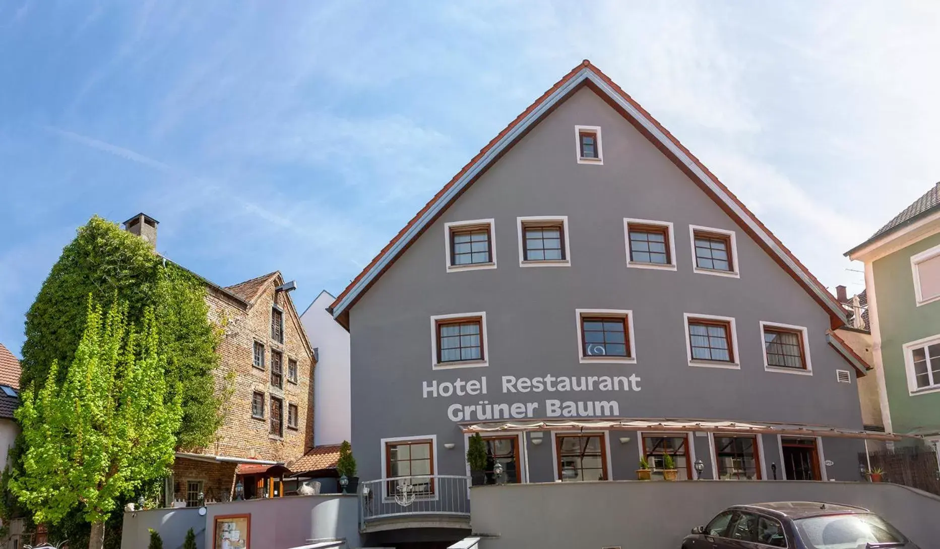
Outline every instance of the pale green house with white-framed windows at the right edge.
{"label": "pale green house with white-framed windows at the right edge", "polygon": [[845,255],[865,263],[885,429],[923,436],[936,445],[940,441],[940,183]]}

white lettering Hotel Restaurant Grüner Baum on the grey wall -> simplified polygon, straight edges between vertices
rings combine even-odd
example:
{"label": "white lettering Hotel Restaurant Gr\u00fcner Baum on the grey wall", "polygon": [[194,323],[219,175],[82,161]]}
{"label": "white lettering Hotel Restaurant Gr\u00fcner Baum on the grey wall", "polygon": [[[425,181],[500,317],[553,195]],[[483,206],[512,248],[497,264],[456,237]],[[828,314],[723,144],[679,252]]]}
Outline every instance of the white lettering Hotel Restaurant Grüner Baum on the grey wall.
{"label": "white lettering Hotel Restaurant Gr\u00fcner Baum on the grey wall", "polygon": [[[456,395],[486,395],[486,376],[478,380],[457,378],[453,383],[436,380],[422,383],[422,397],[436,399]],[[572,391],[639,391],[640,377],[627,376],[553,376],[535,378],[502,376],[503,393],[541,393]],[[525,419],[532,417],[598,417],[620,415],[617,400],[556,400],[544,401],[544,412],[539,402],[494,402],[478,400],[476,403],[453,403],[447,406],[451,421],[492,421],[494,419]]]}

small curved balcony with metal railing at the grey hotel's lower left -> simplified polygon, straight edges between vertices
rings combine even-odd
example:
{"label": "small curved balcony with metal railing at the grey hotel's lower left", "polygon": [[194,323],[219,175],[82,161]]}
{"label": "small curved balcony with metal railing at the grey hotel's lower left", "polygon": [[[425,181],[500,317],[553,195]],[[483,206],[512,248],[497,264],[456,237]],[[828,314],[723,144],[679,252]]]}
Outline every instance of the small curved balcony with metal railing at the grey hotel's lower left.
{"label": "small curved balcony with metal railing at the grey hotel's lower left", "polygon": [[359,484],[359,530],[470,528],[470,478],[424,475]]}

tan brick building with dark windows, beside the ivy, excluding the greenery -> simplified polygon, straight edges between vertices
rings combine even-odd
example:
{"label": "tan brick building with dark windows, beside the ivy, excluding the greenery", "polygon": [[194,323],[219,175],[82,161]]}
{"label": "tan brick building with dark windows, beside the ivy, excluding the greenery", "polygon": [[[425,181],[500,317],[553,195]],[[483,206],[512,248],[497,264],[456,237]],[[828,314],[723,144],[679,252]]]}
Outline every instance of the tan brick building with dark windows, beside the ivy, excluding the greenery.
{"label": "tan brick building with dark windows, beside the ivy, excluding the greenery", "polygon": [[[140,213],[124,225],[156,244],[151,217]],[[166,503],[197,506],[200,495],[227,501],[237,484],[245,497],[283,495],[274,479],[313,447],[315,360],[290,299],[295,286],[279,272],[228,287],[196,276],[206,285],[210,320],[224,330],[216,385],[231,397],[215,444],[177,453],[164,486],[173,501]]]}

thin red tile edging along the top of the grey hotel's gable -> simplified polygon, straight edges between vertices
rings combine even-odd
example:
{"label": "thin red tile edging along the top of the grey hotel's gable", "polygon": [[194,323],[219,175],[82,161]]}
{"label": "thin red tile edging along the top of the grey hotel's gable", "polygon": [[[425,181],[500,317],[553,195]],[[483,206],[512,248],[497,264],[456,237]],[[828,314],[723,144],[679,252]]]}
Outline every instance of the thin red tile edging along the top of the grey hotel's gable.
{"label": "thin red tile edging along the top of the grey hotel's gable", "polygon": [[[640,106],[640,104],[639,104],[638,102],[635,102],[634,99],[633,99],[632,97],[630,97],[630,95],[628,95],[625,91],[623,91],[623,89],[622,89],[620,86],[618,86],[617,84],[615,84],[614,81],[610,79],[610,77],[608,77],[606,74],[603,73],[603,71],[601,71],[600,69],[598,69],[597,67],[595,67],[590,61],[588,61],[587,59],[585,59],[582,63],[580,63],[578,66],[576,66],[574,69],[572,69],[572,71],[570,71],[568,74],[566,74],[564,77],[562,77],[561,80],[559,80],[558,82],[556,82],[555,86],[552,86],[551,88],[548,89],[548,91],[546,91],[545,93],[543,93],[543,94],[541,95],[541,97],[540,97],[538,100],[536,100],[536,102],[533,102],[531,105],[529,105],[529,107],[528,107],[527,109],[525,109],[525,111],[523,111],[523,113],[522,113],[521,115],[519,115],[519,116],[516,117],[514,120],[512,120],[512,122],[509,123],[509,126],[507,126],[507,127],[506,127],[502,132],[500,132],[498,135],[496,135],[495,137],[493,137],[493,139],[486,145],[486,147],[484,147],[483,149],[480,149],[480,151],[478,152],[477,156],[475,156],[473,159],[471,159],[470,162],[467,163],[467,165],[464,165],[463,168],[461,169],[461,171],[458,172],[457,175],[455,175],[455,176],[453,177],[453,179],[451,179],[450,181],[448,181],[447,184],[444,186],[444,188],[441,189],[441,191],[438,192],[437,195],[433,196],[433,197],[431,198],[431,200],[424,206],[424,208],[422,208],[420,212],[417,212],[417,214],[415,214],[415,217],[413,217],[412,220],[409,221],[408,224],[407,224],[405,227],[403,227],[401,230],[399,230],[399,233],[395,236],[395,238],[393,238],[389,243],[387,243],[387,244],[385,245],[385,247],[382,249],[382,251],[379,252],[379,254],[375,257],[375,259],[372,259],[372,260],[368,263],[368,265],[366,266],[366,268],[363,269],[362,272],[359,273],[354,279],[352,279],[352,282],[346,287],[345,290],[342,291],[342,293],[339,294],[339,296],[337,297],[336,301],[333,302],[333,305],[331,305],[331,307],[336,307],[337,305],[339,305],[339,302],[342,301],[342,300],[346,297],[346,295],[352,290],[352,288],[353,288],[356,284],[358,284],[359,281],[362,280],[362,278],[363,278],[364,276],[366,276],[366,274],[368,274],[368,272],[372,269],[372,267],[373,267],[380,259],[382,259],[382,257],[384,256],[384,254],[385,254],[392,246],[394,246],[396,243],[398,243],[398,241],[402,238],[402,236],[404,235],[404,233],[405,233],[409,228],[411,228],[412,226],[414,226],[415,223],[417,222],[417,220],[420,219],[420,217],[421,217],[425,212],[427,212],[427,211],[431,208],[431,206],[434,204],[434,202],[436,202],[441,196],[443,196],[443,195],[447,192],[447,190],[450,189],[450,188],[457,182],[457,180],[460,180],[461,177],[463,176],[463,174],[464,174],[468,169],[470,169],[471,166],[475,165],[475,164],[477,163],[477,161],[478,161],[484,154],[486,154],[490,149],[492,149],[493,146],[494,146],[500,139],[503,138],[503,136],[505,136],[507,133],[509,133],[510,131],[512,131],[512,129],[513,129],[517,124],[519,124],[519,123],[522,121],[523,118],[525,118],[529,113],[531,113],[533,110],[535,110],[536,108],[538,108],[538,107],[540,106],[540,104],[541,104],[542,102],[544,102],[544,101],[548,98],[548,96],[550,96],[553,92],[556,91],[556,89],[558,89],[558,88],[561,87],[561,86],[564,86],[570,79],[572,79],[572,77],[574,77],[575,74],[578,73],[578,71],[581,71],[582,69],[584,69],[584,68],[586,68],[586,67],[587,67],[588,69],[590,69],[591,71],[593,71],[595,74],[597,74],[597,76],[600,77],[600,78],[603,80],[603,82],[604,82],[605,84],[607,84],[608,86],[611,86],[611,88],[613,88],[613,89],[620,95],[620,97],[623,98],[624,101],[629,102],[633,107],[635,107],[636,110],[638,110],[640,113],[642,113],[642,115],[643,115],[645,118],[649,119],[650,122],[651,122],[660,132],[662,132],[662,133],[666,136],[666,138],[667,138],[673,145],[675,145],[678,149],[682,150],[682,152],[683,152],[684,154],[686,154],[686,155],[689,157],[689,159],[692,160],[692,162],[695,163],[695,165],[697,165],[697,167],[702,170],[702,172],[704,172],[711,180],[713,180],[713,182],[722,190],[722,192],[726,193],[726,194],[729,196],[729,199],[732,200],[732,201],[735,203],[735,205],[737,205],[739,208],[741,208],[741,210],[742,210],[755,224],[757,224],[757,226],[760,227],[761,230],[763,230],[763,231],[770,237],[770,239],[780,248],[780,250],[781,250],[788,258],[790,258],[790,259],[793,261],[793,263],[797,266],[797,268],[800,269],[800,270],[803,272],[803,274],[806,274],[808,280],[809,280],[813,285],[815,285],[818,290],[822,291],[822,295],[825,295],[825,296],[828,296],[828,295],[829,295],[829,291],[826,290],[825,287],[823,286],[823,284],[822,284],[812,273],[809,272],[809,270],[807,269],[807,267],[806,267],[799,259],[796,259],[796,257],[793,256],[792,252],[791,252],[785,245],[783,245],[782,242],[780,242],[780,239],[776,238],[776,235],[775,235],[773,232],[771,232],[770,229],[767,228],[763,223],[761,223],[760,220],[754,215],[754,213],[751,212],[750,210],[748,210],[747,207],[744,206],[744,203],[741,202],[741,200],[739,200],[737,196],[734,196],[734,194],[731,193],[731,191],[729,190],[729,188],[728,188],[727,186],[725,186],[724,183],[722,183],[720,180],[718,180],[717,177],[715,177],[715,175],[712,173],[711,170],[709,170],[707,167],[705,167],[705,165],[703,165],[703,164],[701,163],[701,161],[699,161],[699,160],[697,159],[697,157],[696,157],[694,154],[692,154],[692,152],[691,152],[689,149],[686,149],[686,148],[682,145],[682,143],[679,142],[679,139],[677,139],[672,133],[669,133],[669,131],[666,130],[666,128],[665,128],[662,124],[660,124],[658,120],[656,120],[655,118],[653,118],[653,117],[650,115],[650,113],[649,113],[646,109],[644,109],[642,106]],[[652,138],[650,137],[650,140],[651,140],[651,139],[652,139]],[[729,212],[729,214],[731,214],[731,212]],[[733,214],[731,214],[731,215],[733,216]],[[788,270],[789,270],[789,268],[788,268]],[[798,276],[795,276],[795,277],[796,277],[797,279],[799,278]],[[808,290],[808,289],[807,289],[807,290]],[[817,296],[817,295],[813,295],[813,298],[816,299],[818,302],[820,302],[821,305],[823,305],[823,300],[825,299],[824,297],[819,297],[819,296]],[[836,302],[835,298],[830,299],[830,301],[831,301],[831,305],[834,306],[834,308],[836,308],[836,309],[838,309],[838,310],[841,310],[841,309],[838,307],[838,303]],[[830,315],[833,315],[833,318],[836,318],[836,317],[835,317],[835,313],[834,313],[833,311],[828,311],[828,312],[830,313]],[[840,319],[839,319],[839,320],[840,320]]]}

